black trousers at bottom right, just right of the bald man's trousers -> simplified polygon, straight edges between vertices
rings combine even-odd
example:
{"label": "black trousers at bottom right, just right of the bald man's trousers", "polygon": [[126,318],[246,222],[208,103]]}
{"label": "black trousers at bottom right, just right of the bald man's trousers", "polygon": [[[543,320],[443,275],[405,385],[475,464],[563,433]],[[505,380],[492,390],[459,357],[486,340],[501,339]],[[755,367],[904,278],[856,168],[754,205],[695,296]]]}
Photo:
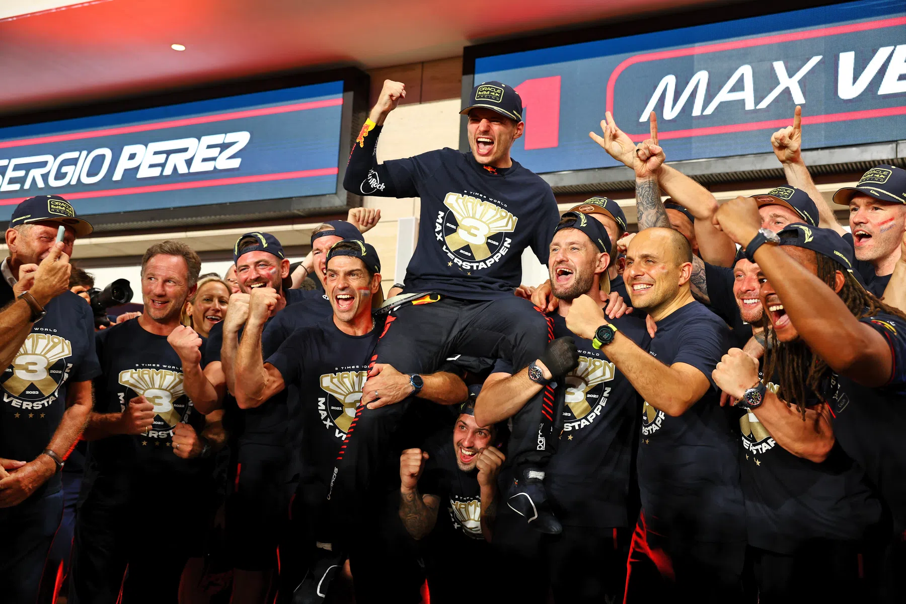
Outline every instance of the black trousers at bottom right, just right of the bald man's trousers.
{"label": "black trousers at bottom right, just right of the bald man's trousers", "polygon": [[863,545],[816,539],[795,553],[749,546],[760,604],[875,601],[862,578]]}

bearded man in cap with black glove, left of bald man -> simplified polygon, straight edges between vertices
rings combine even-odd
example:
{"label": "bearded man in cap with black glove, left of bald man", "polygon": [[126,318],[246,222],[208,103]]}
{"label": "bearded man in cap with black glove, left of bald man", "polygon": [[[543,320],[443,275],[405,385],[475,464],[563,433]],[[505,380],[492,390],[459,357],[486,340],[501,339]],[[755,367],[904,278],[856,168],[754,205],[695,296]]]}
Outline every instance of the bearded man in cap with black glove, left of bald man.
{"label": "bearded man in cap with black glove, left of bald man", "polygon": [[[532,572],[532,580],[507,588],[514,600],[545,601],[548,585],[557,602],[622,599],[629,526],[638,515],[632,464],[641,407],[600,344],[575,336],[564,320],[579,296],[598,300],[611,248],[602,225],[572,212],[564,215],[550,244],[548,270],[559,300],[554,341],[574,338],[579,355],[565,379],[556,379],[558,400],[565,399],[563,431],[548,465],[548,493],[564,532],[541,540],[535,532],[514,531],[513,514],[500,513],[496,546],[505,548],[508,563],[516,562],[514,571]],[[644,321],[628,315],[613,323],[627,337],[647,340]],[[545,369],[543,361],[535,364]],[[540,388],[530,381],[531,370],[511,376],[506,361],[499,361],[478,400],[477,419],[487,423],[512,415]],[[594,571],[577,573],[577,568]]]}

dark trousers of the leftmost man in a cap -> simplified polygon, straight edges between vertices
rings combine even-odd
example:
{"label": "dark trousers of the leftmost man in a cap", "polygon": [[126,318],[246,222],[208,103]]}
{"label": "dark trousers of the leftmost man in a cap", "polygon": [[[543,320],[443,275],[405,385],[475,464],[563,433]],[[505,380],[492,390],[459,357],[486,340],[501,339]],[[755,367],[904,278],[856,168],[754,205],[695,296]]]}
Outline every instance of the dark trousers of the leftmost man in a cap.
{"label": "dark trousers of the leftmost man in a cap", "polygon": [[0,600],[34,604],[44,559],[63,517],[63,492],[0,509]]}

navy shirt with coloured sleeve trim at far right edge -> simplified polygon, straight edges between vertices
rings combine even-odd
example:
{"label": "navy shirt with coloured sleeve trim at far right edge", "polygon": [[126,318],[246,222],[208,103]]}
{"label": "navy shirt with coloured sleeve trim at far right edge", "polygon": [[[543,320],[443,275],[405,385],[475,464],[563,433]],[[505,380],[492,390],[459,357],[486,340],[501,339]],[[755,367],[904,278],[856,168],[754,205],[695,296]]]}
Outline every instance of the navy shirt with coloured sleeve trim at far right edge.
{"label": "navy shirt with coloured sleeve trim at far right edge", "polygon": [[893,517],[896,534],[906,530],[906,321],[879,312],[861,319],[891,347],[892,376],[881,388],[867,388],[834,374],[823,386],[834,416],[834,436],[861,465]]}

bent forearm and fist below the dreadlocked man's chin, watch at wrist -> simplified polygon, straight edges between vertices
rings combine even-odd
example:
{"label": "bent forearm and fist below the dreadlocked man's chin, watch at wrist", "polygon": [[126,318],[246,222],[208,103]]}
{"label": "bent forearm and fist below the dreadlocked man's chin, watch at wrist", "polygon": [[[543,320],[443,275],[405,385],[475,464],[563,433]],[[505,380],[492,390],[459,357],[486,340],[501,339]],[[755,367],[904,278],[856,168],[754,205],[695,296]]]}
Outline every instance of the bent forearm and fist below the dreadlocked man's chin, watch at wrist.
{"label": "bent forearm and fist below the dreadlocked man's chin, watch at wrist", "polygon": [[[725,394],[739,400],[759,381],[758,361],[743,350],[731,348],[711,376]],[[749,413],[757,417],[777,445],[797,457],[820,464],[834,448],[834,428],[825,403],[806,408],[803,414],[767,390],[761,405]]]}

